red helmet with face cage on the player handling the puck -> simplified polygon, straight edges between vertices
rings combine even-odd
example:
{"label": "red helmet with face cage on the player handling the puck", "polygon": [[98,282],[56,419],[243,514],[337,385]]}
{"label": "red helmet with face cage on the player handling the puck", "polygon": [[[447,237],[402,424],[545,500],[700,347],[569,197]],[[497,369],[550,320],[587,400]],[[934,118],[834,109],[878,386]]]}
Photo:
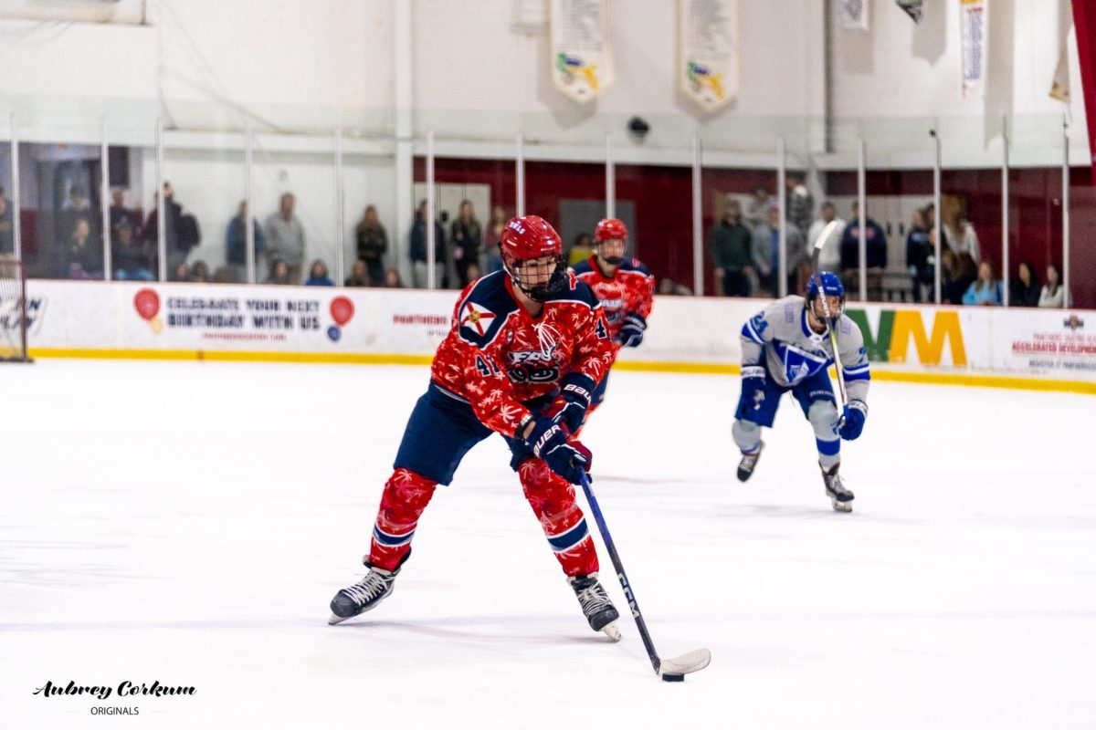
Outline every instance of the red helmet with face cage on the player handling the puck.
{"label": "red helmet with face cage on the player handling the puck", "polygon": [[[563,242],[540,216],[521,216],[506,221],[499,248],[506,274],[529,299],[543,302],[567,282]],[[547,257],[551,257],[550,264],[532,266],[535,259]]]}

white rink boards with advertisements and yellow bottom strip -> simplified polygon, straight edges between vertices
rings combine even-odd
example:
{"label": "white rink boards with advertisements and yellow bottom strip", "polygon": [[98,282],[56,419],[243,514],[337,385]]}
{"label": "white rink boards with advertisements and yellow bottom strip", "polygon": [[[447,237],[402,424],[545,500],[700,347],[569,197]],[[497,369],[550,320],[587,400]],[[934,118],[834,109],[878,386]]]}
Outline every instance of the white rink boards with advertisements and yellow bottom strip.
{"label": "white rink boards with advertisements and yellow bottom strip", "polygon": [[[32,357],[426,363],[457,292],[27,282]],[[735,373],[756,299],[657,298],[620,369]],[[16,322],[4,308],[9,334]],[[1096,312],[850,304],[886,380],[1096,393]]]}

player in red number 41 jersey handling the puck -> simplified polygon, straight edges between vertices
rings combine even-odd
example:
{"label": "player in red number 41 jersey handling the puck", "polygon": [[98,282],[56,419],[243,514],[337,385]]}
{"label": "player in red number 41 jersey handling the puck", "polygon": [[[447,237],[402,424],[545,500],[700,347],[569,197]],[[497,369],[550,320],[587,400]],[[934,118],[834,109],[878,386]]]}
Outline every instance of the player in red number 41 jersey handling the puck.
{"label": "player in red number 41 jersey handling the puck", "polygon": [[620,637],[572,486],[591,455],[571,433],[613,362],[605,314],[567,271],[559,234],[541,218],[511,219],[499,246],[503,270],[471,282],[457,301],[381,495],[369,571],[332,599],[332,624],[392,592],[435,486],[448,485],[464,455],[498,432],[591,628]]}

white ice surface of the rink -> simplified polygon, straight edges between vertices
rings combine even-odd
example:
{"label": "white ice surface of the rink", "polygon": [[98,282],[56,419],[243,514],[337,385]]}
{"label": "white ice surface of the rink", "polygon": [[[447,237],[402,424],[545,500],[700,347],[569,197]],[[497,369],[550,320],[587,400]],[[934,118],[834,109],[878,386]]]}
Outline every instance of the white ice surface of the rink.
{"label": "white ice surface of the rink", "polygon": [[[424,368],[0,378],[5,729],[1096,726],[1093,397],[876,383],[838,514],[792,401],[743,486],[737,379],[615,373],[596,494],[659,650],[712,652],[666,684],[629,617],[617,645],[585,626],[499,438],[438,490],[392,596],[327,625]],[[47,680],[197,694],[32,695]]]}

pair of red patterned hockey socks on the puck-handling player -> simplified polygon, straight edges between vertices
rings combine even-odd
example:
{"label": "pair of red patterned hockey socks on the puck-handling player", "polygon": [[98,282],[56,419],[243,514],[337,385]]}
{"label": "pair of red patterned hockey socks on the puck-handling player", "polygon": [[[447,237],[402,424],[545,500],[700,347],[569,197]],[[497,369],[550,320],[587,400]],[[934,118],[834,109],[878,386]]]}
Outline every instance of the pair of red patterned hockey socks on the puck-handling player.
{"label": "pair of red patterned hockey socks on the puck-handling player", "polygon": [[[517,467],[525,498],[548,538],[563,572],[585,576],[597,572],[597,553],[586,520],[572,487],[539,459],[527,459]],[[398,468],[385,484],[380,510],[369,545],[369,565],[395,570],[411,552],[419,518],[434,496],[436,483],[410,470]]]}

